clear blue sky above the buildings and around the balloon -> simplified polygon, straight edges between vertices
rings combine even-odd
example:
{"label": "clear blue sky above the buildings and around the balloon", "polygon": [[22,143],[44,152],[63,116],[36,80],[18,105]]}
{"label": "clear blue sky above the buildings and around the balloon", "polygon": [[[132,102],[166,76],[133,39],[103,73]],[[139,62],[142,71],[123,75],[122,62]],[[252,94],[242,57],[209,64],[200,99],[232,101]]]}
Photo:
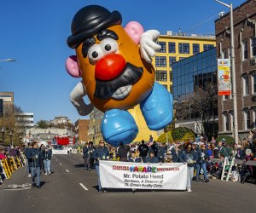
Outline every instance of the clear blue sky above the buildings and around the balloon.
{"label": "clear blue sky above the buildings and around the balloon", "polygon": [[[241,0],[225,0],[240,5]],[[53,119],[65,115],[75,122],[79,117],[69,101],[69,94],[79,79],[65,69],[73,15],[89,4],[99,4],[110,11],[119,10],[123,26],[139,21],[145,30],[157,29],[188,33],[214,33],[214,20],[227,8],[213,0],[9,0],[0,7],[0,91],[14,91],[15,104],[34,119]]]}

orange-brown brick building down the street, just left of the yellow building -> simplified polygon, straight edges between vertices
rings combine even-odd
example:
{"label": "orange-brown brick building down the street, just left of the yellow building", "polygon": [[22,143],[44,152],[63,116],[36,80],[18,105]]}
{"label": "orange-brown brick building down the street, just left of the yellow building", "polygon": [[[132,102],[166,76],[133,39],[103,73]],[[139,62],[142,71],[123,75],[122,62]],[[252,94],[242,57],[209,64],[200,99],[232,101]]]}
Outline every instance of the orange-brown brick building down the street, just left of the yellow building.
{"label": "orange-brown brick building down the street, just left of the yellow building", "polygon": [[79,119],[75,122],[75,132],[77,141],[80,144],[88,142],[89,119]]}

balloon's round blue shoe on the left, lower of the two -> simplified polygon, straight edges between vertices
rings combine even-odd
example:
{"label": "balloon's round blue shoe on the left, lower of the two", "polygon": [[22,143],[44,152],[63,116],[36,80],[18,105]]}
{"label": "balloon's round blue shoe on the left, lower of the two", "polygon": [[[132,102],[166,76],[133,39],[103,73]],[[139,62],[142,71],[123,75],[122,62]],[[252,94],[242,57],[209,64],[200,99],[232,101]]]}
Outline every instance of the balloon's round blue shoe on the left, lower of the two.
{"label": "balloon's round blue shoe on the left, lower of the two", "polygon": [[114,147],[119,147],[119,142],[131,143],[138,133],[137,124],[131,114],[125,110],[112,109],[105,112],[102,118],[102,135]]}

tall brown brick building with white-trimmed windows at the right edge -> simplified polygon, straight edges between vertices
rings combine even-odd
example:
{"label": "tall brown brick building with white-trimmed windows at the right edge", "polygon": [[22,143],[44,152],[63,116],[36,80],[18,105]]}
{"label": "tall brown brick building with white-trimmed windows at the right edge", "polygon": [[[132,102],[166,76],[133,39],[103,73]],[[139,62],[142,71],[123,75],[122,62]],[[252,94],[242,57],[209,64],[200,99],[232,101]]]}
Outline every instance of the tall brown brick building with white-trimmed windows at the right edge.
{"label": "tall brown brick building with white-trimmed windows at the right edge", "polygon": [[[248,0],[233,12],[238,134],[256,124],[256,3]],[[218,58],[230,58],[230,13],[215,20]],[[233,133],[232,95],[218,97],[218,134]]]}

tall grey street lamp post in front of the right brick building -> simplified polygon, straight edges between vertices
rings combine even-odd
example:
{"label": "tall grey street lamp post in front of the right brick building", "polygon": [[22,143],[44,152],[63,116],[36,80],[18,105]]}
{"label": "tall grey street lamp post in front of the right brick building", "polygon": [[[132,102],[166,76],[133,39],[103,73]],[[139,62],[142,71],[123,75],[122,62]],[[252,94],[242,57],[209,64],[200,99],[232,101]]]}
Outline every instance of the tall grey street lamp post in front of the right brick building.
{"label": "tall grey street lamp post in front of the right brick building", "polygon": [[215,0],[225,7],[230,9],[230,38],[231,38],[231,71],[232,71],[232,95],[233,95],[233,107],[234,107],[234,138],[235,143],[238,144],[238,124],[237,124],[237,102],[236,102],[236,66],[235,66],[235,43],[234,43],[234,24],[233,24],[233,5],[227,4]]}

